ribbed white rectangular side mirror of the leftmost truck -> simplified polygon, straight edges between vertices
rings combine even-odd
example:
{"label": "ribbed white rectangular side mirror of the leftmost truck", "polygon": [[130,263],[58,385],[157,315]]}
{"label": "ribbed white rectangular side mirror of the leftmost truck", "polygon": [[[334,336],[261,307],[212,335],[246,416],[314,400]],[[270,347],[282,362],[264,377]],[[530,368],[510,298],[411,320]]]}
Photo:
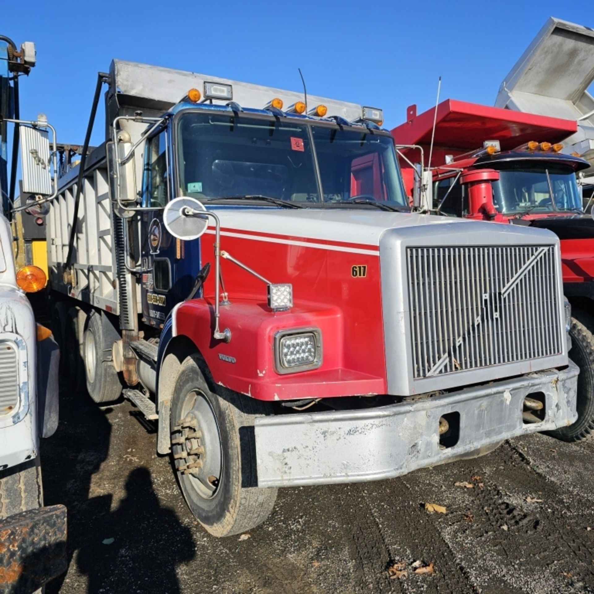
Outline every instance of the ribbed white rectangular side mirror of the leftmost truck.
{"label": "ribbed white rectangular side mirror of the leftmost truck", "polygon": [[[39,127],[18,125],[21,137],[23,192],[50,196],[54,193],[54,184],[50,170],[52,159],[49,150],[49,132]],[[54,175],[57,175],[57,172],[54,172]]]}

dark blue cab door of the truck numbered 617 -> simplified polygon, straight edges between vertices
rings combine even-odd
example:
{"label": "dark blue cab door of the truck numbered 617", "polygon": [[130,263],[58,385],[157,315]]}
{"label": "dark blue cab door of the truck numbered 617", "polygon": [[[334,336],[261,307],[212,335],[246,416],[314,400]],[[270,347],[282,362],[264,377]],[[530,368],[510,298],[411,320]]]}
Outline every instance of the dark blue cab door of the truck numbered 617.
{"label": "dark blue cab door of the truck numbered 617", "polygon": [[163,226],[163,208],[175,197],[171,147],[170,128],[165,126],[147,140],[144,153],[143,206],[151,210],[141,217],[141,300],[144,321],[156,327],[188,295],[192,283],[185,242]]}

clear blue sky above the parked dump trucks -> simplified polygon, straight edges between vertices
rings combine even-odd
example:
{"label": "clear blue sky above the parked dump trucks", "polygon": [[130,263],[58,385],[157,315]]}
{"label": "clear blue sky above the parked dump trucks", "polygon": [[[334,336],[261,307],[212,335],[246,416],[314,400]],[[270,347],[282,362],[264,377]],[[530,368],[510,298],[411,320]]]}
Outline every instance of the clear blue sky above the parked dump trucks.
{"label": "clear blue sky above the parked dump trucks", "polygon": [[[0,33],[34,41],[21,116],[48,115],[58,141],[82,143],[96,72],[112,58],[300,90],[384,109],[392,128],[453,97],[492,105],[501,80],[549,16],[594,26],[583,3],[293,0],[79,2],[4,7]],[[111,7],[112,10],[106,10]],[[116,12],[117,7],[117,12]],[[589,21],[587,21],[589,19]],[[91,144],[103,138],[100,113]]]}

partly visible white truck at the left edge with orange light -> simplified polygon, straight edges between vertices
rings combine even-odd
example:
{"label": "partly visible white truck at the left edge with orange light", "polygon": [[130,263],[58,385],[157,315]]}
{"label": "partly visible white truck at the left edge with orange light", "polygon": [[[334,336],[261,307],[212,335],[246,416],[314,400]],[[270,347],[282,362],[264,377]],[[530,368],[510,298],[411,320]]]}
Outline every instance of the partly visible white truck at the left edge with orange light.
{"label": "partly visible white truck at the left edge with orange light", "polygon": [[[33,592],[66,570],[66,508],[43,506],[40,438],[58,425],[58,345],[51,331],[36,324],[28,296],[45,287],[46,275],[36,266],[17,266],[13,248],[16,174],[38,198],[55,197],[57,179],[51,168],[49,124],[43,116],[20,119],[19,77],[36,61],[34,45],[18,48],[0,36],[0,590]],[[11,172],[7,133],[12,128]],[[20,138],[20,142],[19,142]],[[55,142],[55,137],[54,137]],[[30,175],[33,153],[48,170]],[[9,222],[9,219],[11,221]],[[40,590],[39,590],[40,591]]]}

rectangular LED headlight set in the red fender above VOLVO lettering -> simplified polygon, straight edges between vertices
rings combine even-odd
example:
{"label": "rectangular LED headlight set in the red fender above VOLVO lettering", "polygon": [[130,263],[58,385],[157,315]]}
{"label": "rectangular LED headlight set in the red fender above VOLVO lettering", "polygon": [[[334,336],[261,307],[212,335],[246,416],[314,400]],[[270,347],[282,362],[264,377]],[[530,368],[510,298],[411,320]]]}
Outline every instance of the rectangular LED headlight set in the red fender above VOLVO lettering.
{"label": "rectangular LED headlight set in the red fender above VOLVO lettering", "polygon": [[316,369],[322,364],[318,328],[283,330],[274,337],[274,361],[279,374]]}

